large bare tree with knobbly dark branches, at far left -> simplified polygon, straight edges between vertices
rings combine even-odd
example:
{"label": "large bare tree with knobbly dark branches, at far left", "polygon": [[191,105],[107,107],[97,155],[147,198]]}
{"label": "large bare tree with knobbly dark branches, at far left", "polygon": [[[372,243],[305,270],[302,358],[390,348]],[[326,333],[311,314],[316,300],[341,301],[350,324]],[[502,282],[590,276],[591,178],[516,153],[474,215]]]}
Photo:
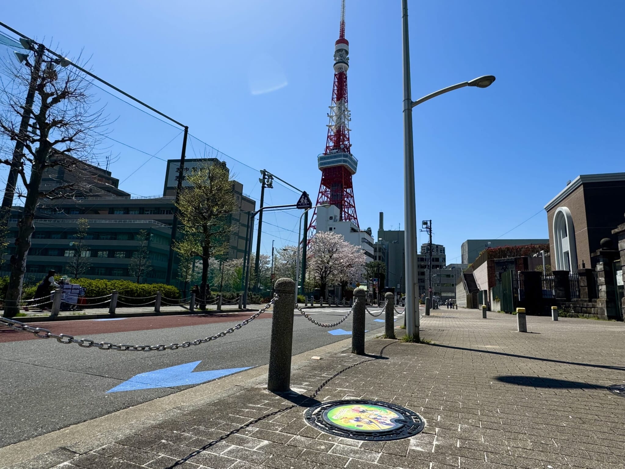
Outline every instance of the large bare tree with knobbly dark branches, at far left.
{"label": "large bare tree with knobbly dark branches, at far left", "polygon": [[[26,256],[35,229],[37,202],[67,197],[85,184],[83,178],[77,178],[73,183],[42,188],[44,171],[59,166],[68,172],[84,169],[86,161],[93,161],[96,156],[104,135],[101,129],[105,122],[103,109],[91,109],[94,103],[89,93],[91,83],[73,70],[59,66],[58,59],[44,56],[43,63],[45,66],[39,73],[27,60],[26,66],[4,63],[3,72],[10,80],[2,80],[0,84],[0,134],[9,141],[19,140],[24,147],[24,154],[17,162],[13,161],[12,151],[6,151],[0,158],[0,164],[17,169],[23,186],[17,196],[24,200],[17,221],[16,250],[10,260],[11,277],[4,312],[8,317],[19,312],[17,302],[22,293]],[[25,106],[24,98],[31,81],[35,89],[34,103]],[[19,129],[22,118],[31,122],[26,132]]]}

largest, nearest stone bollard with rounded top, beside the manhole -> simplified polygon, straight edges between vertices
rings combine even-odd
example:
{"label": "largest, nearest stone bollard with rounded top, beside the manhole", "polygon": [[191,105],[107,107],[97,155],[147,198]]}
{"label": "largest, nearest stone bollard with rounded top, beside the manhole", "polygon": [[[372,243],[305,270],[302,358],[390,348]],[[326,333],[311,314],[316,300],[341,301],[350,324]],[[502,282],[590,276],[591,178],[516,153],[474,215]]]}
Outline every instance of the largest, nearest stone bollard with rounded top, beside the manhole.
{"label": "largest, nearest stone bollard with rounded top, beside the manhole", "polygon": [[274,284],[274,290],[278,299],[274,303],[271,320],[267,390],[281,393],[291,390],[295,282],[290,278],[279,278]]}

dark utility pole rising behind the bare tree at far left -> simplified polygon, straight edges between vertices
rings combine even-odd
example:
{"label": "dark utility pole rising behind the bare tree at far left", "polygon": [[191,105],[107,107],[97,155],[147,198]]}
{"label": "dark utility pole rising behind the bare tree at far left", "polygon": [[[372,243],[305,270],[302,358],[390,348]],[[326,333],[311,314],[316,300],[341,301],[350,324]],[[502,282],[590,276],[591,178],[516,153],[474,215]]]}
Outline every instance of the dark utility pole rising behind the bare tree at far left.
{"label": "dark utility pole rising behind the bare tree at far left", "polygon": [[[34,43],[29,41],[27,42],[29,45],[29,49],[34,51]],[[13,159],[11,160],[11,169],[9,169],[9,174],[6,178],[6,189],[4,189],[4,198],[2,198],[2,224],[7,223],[4,219],[9,218],[9,213],[11,212],[11,207],[13,205],[13,198],[15,196],[15,186],[17,185],[17,169],[19,169],[19,165],[22,162],[22,154],[24,152],[24,137],[28,132],[28,125],[31,122],[31,113],[32,113],[32,103],[34,103],[35,99],[35,91],[37,88],[37,81],[39,76],[41,75],[41,63],[43,61],[43,54],[46,51],[46,46],[43,44],[39,44],[39,47],[36,49],[35,53],[35,63],[31,65],[28,62],[27,54],[17,54],[18,59],[24,59],[26,62],[26,66],[31,68],[31,81],[28,84],[28,93],[26,94],[26,102],[24,103],[24,111],[22,112],[22,120],[19,123],[19,137],[15,143],[15,148],[13,149]]]}

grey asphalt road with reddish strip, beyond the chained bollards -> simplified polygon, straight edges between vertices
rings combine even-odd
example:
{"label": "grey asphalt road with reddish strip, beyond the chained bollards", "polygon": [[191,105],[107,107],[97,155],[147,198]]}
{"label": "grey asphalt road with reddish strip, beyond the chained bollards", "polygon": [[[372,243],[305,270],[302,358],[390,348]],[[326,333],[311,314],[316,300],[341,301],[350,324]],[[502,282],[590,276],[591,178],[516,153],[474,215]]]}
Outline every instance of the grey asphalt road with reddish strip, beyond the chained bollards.
{"label": "grey asphalt road with reddish strip, beyond the chained bollards", "polygon": [[[372,313],[379,308],[369,308]],[[336,322],[347,308],[308,310],[314,319]],[[234,316],[234,315],[233,315]],[[204,338],[249,317],[150,316],[117,321],[43,323],[55,333],[126,344],[169,344]],[[384,319],[366,315],[366,329],[383,330]],[[399,320],[397,320],[399,324]],[[34,325],[34,324],[31,324]],[[37,324],[38,325],[38,324]],[[332,328],[351,330],[351,318]],[[107,392],[139,373],[201,361],[194,372],[266,365],[271,314],[210,343],[170,351],[102,351],[61,345],[54,339],[0,328],[0,447],[108,415],[129,406],[176,393],[189,386]],[[32,340],[31,340],[32,338]],[[294,318],[293,355],[349,338],[331,335],[299,313]]]}

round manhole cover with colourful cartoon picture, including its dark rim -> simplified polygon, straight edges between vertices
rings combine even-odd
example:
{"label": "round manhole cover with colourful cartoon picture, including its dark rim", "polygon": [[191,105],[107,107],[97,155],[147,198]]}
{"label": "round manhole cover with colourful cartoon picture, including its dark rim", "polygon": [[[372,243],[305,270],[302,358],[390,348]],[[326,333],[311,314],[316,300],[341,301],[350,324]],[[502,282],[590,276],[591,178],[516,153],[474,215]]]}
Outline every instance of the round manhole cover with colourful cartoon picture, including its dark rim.
{"label": "round manhole cover with colourful cartoon picture, including its dark rim", "polygon": [[382,401],[329,401],[304,413],[306,421],[330,435],[352,440],[401,440],[416,435],[425,426],[421,416]]}

